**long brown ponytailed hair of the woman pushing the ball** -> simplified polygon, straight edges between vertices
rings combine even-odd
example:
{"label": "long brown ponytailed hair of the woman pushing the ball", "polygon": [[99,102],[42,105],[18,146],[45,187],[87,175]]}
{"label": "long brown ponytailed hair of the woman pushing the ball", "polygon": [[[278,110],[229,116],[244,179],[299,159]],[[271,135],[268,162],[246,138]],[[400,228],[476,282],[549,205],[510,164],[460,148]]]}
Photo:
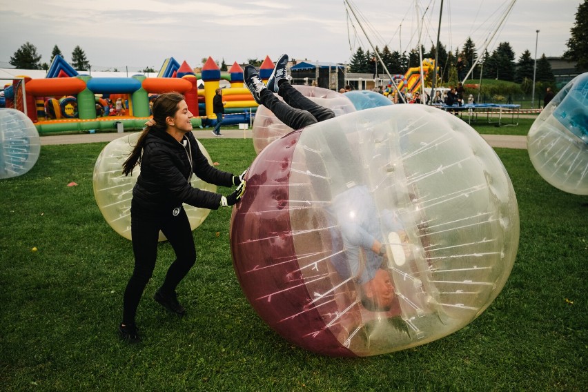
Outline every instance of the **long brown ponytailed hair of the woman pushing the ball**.
{"label": "long brown ponytailed hair of the woman pushing the ball", "polygon": [[184,100],[184,95],[178,92],[166,92],[159,95],[153,101],[153,122],[155,125],[146,126],[137,140],[137,144],[133,147],[133,151],[130,152],[126,161],[123,164],[123,174],[129,175],[133,173],[133,168],[141,164],[141,155],[143,153],[143,147],[145,146],[145,138],[150,130],[162,130],[165,131],[167,128],[166,118],[174,117],[177,112],[177,105],[180,101]]}

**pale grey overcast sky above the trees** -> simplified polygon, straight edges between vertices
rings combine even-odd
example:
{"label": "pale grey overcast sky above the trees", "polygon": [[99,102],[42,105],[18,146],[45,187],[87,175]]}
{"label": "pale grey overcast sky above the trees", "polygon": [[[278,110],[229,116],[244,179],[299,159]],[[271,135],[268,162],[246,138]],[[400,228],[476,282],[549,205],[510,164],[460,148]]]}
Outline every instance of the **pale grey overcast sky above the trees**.
{"label": "pale grey overcast sky above the trees", "polygon": [[[440,39],[452,51],[467,37],[478,50],[489,43],[489,52],[508,41],[518,59],[524,50],[534,57],[540,30],[538,57],[560,56],[582,1],[516,0],[491,39],[512,0],[445,0]],[[440,0],[349,3],[380,49],[417,47],[419,20],[424,47],[436,40]],[[158,70],[168,57],[198,67],[210,56],[231,66],[266,55],[275,60],[284,52],[294,59],[349,63],[357,48],[371,50],[343,0],[0,0],[0,34],[4,66],[28,41],[41,63],[49,63],[55,45],[66,61],[80,46],[92,70]]]}

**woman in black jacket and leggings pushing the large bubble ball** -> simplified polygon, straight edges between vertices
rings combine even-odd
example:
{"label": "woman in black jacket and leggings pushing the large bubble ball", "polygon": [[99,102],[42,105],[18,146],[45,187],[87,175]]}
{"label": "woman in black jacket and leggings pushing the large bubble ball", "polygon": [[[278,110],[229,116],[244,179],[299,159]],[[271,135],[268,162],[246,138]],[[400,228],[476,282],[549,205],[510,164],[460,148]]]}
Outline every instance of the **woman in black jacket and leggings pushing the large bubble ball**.
{"label": "woman in black jacket and leggings pushing the large bubble ball", "polygon": [[[159,231],[173,247],[176,259],[153,298],[168,311],[182,316],[186,311],[177,300],[176,287],[196,261],[194,238],[183,204],[216,210],[236,204],[245,191],[246,170],[242,175],[233,175],[208,164],[191,132],[192,117],[183,95],[159,95],[153,101],[153,118],[146,122],[123,164],[124,175],[132,175],[133,168],[141,166],[130,207],[135,268],[124,292],[119,325],[120,337],[131,343],[141,340],[135,315],[153,275]],[[209,184],[237,186],[237,190],[223,196],[194,188],[190,184],[193,174]]]}

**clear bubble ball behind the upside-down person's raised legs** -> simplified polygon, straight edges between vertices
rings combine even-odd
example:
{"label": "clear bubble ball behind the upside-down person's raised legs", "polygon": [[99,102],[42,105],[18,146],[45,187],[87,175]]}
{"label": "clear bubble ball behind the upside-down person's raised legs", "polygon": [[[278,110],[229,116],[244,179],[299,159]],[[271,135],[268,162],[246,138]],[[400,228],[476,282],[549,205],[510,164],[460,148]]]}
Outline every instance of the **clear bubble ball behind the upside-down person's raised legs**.
{"label": "clear bubble ball behind the upside-down person's raised legs", "polygon": [[[295,85],[293,87],[316,104],[333,110],[335,116],[355,112],[353,103],[340,92],[314,86]],[[280,96],[278,98],[282,99]],[[292,128],[277,119],[273,112],[263,105],[259,106],[257,112],[255,112],[252,130],[253,148],[255,148],[255,153],[257,154],[275,139],[280,139],[280,137],[293,131]]]}

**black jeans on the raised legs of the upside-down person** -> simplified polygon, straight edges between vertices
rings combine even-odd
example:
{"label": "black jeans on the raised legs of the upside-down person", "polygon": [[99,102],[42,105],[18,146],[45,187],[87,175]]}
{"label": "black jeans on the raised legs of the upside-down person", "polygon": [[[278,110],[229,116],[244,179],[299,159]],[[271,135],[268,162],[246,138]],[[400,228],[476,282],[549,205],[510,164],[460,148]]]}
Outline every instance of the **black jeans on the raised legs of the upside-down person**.
{"label": "black jeans on the raised legs of the upside-down person", "polygon": [[335,117],[333,110],[315,104],[287,82],[280,84],[278,95],[285,103],[268,89],[264,89],[259,97],[275,117],[294,130]]}

